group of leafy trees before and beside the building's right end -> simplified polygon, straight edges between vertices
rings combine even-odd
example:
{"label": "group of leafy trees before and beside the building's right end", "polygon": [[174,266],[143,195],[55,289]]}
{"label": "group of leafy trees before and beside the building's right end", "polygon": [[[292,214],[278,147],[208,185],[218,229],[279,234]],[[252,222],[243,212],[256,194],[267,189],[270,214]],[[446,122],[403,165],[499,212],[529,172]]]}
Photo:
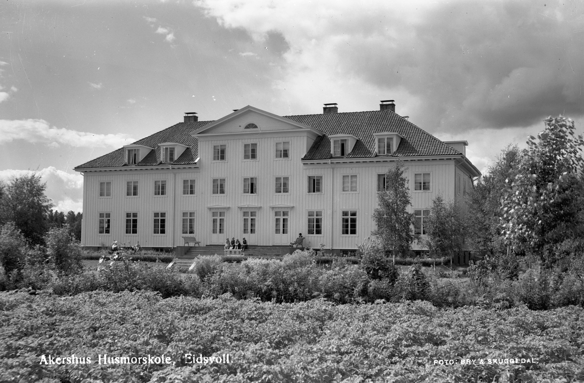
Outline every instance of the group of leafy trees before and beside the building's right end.
{"label": "group of leafy trees before and beside the building's right end", "polygon": [[[403,163],[385,175],[373,218],[383,249],[408,256],[414,241],[430,256],[451,257],[463,249],[498,255],[532,255],[554,267],[584,251],[584,159],[582,135],[566,117],[550,117],[527,148],[503,149],[471,187],[468,212],[436,196],[423,217],[425,235],[416,232],[420,217],[408,213],[411,194]],[[418,221],[416,221],[418,220]]]}

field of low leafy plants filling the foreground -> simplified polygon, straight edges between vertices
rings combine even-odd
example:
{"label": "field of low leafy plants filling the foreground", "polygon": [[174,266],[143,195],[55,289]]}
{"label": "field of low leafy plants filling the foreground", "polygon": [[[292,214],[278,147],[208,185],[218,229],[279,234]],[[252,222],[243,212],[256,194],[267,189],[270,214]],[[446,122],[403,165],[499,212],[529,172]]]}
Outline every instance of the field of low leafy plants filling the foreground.
{"label": "field of low leafy plants filling the foreground", "polygon": [[[582,381],[582,318],[584,309],[574,306],[444,310],[421,301],[274,304],[229,294],[0,293],[0,381]],[[92,363],[40,363],[43,355],[72,354]],[[99,354],[164,354],[172,363],[99,364]],[[185,354],[229,354],[231,363],[189,363]],[[461,359],[477,363],[461,365]]]}

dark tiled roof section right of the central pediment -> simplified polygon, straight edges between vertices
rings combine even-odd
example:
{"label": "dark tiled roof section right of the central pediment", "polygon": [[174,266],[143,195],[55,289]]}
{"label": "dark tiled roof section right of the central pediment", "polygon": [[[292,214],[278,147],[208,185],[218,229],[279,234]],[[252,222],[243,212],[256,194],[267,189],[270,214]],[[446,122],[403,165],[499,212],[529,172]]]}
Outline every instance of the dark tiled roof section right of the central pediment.
{"label": "dark tiled roof section right of the central pediment", "polygon": [[[456,155],[460,152],[426,133],[399,114],[390,110],[372,112],[349,112],[328,114],[305,114],[284,116],[286,119],[303,123],[318,129],[326,135],[351,134],[359,141],[347,158],[366,158],[376,156],[374,133],[399,133],[403,138],[394,156]],[[303,159],[328,159],[331,155],[331,141],[322,136],[314,141]]]}

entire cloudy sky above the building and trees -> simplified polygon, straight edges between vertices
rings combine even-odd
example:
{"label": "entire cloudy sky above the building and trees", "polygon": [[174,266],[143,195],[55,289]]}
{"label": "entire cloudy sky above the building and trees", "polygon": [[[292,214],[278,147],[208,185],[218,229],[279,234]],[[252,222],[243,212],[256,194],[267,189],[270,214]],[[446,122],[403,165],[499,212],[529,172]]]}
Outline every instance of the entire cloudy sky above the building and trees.
{"label": "entire cloudy sky above the building and trees", "polygon": [[584,131],[584,2],[0,3],[0,179],[30,171],[82,211],[73,168],[175,123],[246,105],[378,110],[468,141],[483,172],[548,116]]}

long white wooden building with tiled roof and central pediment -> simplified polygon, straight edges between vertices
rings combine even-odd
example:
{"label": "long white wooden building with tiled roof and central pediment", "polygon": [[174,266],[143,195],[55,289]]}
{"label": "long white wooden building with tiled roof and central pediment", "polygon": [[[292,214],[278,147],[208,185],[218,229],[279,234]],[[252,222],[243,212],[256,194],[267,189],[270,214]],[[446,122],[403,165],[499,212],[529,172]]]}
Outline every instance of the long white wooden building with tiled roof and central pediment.
{"label": "long white wooden building with tiled roof and central pediment", "polygon": [[304,246],[353,250],[375,228],[377,192],[398,159],[423,233],[437,195],[465,210],[480,175],[466,145],[426,133],[395,113],[392,100],[371,112],[326,104],[322,114],[301,116],[252,106],[216,121],[186,113],[182,123],[75,168],[84,175],[81,242],[176,248],[188,235],[201,245],[245,237],[251,246],[287,246],[302,233]]}

